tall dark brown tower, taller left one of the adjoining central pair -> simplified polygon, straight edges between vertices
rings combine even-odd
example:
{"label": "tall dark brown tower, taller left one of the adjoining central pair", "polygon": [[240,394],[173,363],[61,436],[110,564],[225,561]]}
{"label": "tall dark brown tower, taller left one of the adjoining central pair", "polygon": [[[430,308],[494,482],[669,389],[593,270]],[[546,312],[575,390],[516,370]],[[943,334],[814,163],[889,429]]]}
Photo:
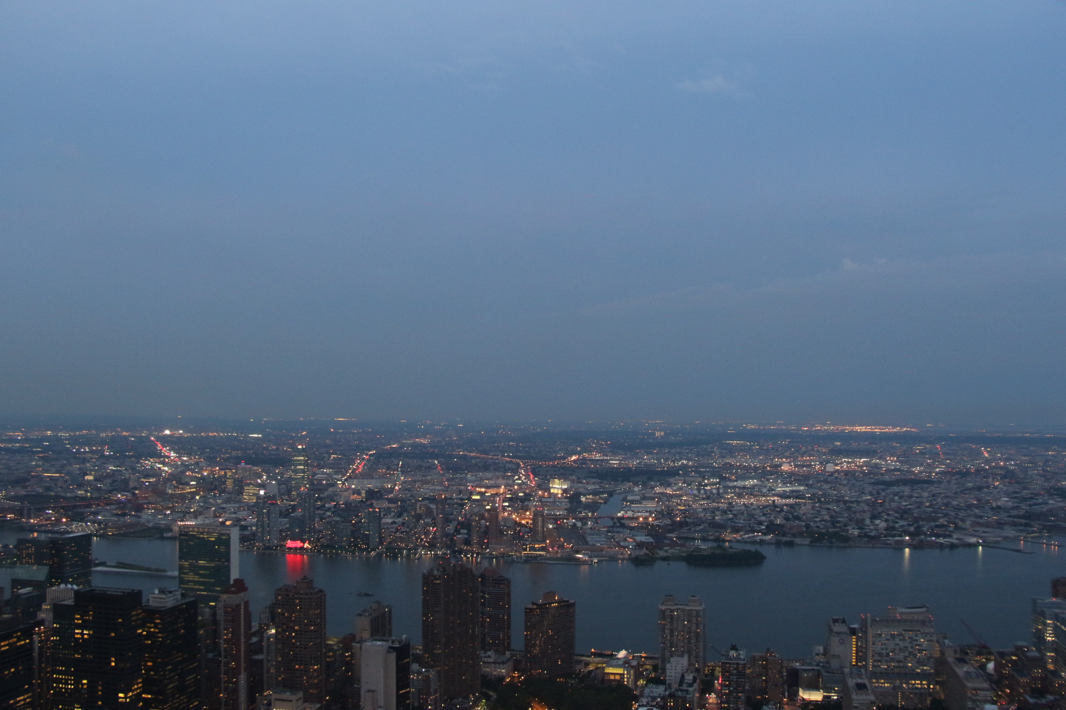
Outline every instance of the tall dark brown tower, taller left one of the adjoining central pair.
{"label": "tall dark brown tower, taller left one of the adjoining central pair", "polygon": [[480,596],[464,564],[445,561],[422,574],[422,656],[438,673],[442,700],[481,691]]}

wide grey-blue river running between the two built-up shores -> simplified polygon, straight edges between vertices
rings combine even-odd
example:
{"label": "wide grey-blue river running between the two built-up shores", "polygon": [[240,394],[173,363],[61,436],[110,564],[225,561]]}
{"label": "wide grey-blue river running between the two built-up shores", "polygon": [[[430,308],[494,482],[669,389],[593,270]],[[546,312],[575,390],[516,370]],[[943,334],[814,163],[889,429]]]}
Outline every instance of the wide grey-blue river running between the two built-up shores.
{"label": "wide grey-blue river running between the two built-up shores", "polygon": [[[6,531],[5,531],[6,532]],[[3,534],[14,542],[17,534]],[[11,540],[7,540],[11,538]],[[1030,638],[1030,599],[1050,594],[1052,577],[1066,575],[1057,548],[1027,545],[1033,555],[996,549],[874,549],[772,547],[754,567],[690,567],[681,562],[635,566],[501,562],[514,584],[513,645],[522,646],[522,607],[548,590],[577,599],[578,649],[657,648],[657,605],[664,594],[696,594],[707,602],[708,641],[749,651],[774,648],[806,658],[823,643],[830,616],[856,623],[890,605],[928,605],[938,629],[959,643],[972,641],[966,620],[994,647]],[[95,555],[109,562],[177,568],[173,540],[97,539]],[[393,607],[393,631],[421,637],[421,572],[430,559],[382,560],[274,552],[241,554],[241,576],[253,609],[268,605],[278,585],[307,575],[326,590],[328,631],[341,635],[373,599]],[[9,590],[10,569],[0,567]],[[94,573],[102,587],[151,590],[173,577]],[[356,596],[370,592],[372,597]]]}

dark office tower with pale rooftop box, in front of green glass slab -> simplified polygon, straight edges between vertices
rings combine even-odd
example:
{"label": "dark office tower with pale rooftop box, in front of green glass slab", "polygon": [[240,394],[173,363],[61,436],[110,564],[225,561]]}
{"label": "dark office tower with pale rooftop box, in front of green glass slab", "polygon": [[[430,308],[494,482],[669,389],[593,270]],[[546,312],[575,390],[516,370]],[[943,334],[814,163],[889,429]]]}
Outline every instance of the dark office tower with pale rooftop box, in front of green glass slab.
{"label": "dark office tower with pale rooftop box, in front of green glass slab", "polygon": [[144,710],[199,707],[197,602],[180,590],[156,590],[144,614]]}

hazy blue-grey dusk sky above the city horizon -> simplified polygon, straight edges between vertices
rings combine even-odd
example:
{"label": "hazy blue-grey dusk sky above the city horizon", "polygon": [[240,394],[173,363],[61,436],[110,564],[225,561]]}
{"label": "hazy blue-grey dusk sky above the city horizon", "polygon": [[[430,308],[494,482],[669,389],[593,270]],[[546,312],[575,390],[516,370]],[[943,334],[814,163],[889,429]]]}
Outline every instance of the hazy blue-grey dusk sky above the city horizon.
{"label": "hazy blue-grey dusk sky above the city horizon", "polygon": [[0,3],[0,412],[1066,423],[1066,3]]}

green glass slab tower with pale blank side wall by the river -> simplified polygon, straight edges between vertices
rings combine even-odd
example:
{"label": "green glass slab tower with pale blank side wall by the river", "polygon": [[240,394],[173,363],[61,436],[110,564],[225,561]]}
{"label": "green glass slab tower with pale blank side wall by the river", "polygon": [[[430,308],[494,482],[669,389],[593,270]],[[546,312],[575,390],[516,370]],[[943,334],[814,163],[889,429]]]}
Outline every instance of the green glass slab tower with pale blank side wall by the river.
{"label": "green glass slab tower with pale blank side wall by the river", "polygon": [[239,576],[240,528],[178,525],[178,587],[213,601]]}

